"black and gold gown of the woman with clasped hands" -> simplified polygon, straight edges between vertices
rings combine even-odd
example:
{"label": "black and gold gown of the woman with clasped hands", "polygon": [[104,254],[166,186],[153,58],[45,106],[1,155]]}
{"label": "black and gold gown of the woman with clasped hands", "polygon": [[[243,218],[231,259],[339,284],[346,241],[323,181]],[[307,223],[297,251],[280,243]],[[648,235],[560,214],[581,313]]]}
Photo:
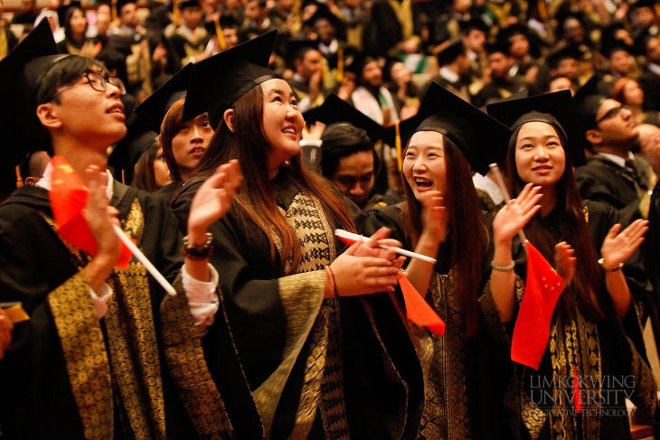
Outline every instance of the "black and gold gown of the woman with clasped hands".
{"label": "black and gold gown of the woman with clasped hands", "polygon": [[[415,352],[403,323],[385,294],[323,299],[322,265],[343,249],[333,235],[336,221],[325,217],[317,200],[279,180],[283,174],[284,167],[274,184],[278,206],[303,247],[297,274],[283,275],[279,251],[273,259],[267,236],[240,197],[210,229],[211,263],[221,274],[226,314],[216,315],[203,343],[234,432],[250,439],[262,429],[271,439],[414,439],[421,372],[410,360]],[[200,184],[192,183],[189,191]],[[173,202],[181,224],[191,198],[184,193]],[[327,336],[319,339],[323,329]],[[227,346],[235,347],[233,356],[222,351]],[[395,370],[384,370],[383,359]],[[320,377],[310,375],[324,363]],[[322,382],[316,390],[315,380]]]}

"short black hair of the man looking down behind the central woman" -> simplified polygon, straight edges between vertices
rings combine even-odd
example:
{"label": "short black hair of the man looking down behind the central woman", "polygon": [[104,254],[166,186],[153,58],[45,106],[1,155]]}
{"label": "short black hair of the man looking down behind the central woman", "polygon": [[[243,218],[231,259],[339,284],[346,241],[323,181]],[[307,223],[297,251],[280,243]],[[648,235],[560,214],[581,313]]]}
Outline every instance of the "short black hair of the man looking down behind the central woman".
{"label": "short black hair of the man looking down behind the central woman", "polygon": [[377,173],[381,160],[373,148],[373,143],[363,128],[340,122],[325,128],[321,136],[322,159],[321,171],[325,178],[332,179],[344,157],[363,151],[373,152],[373,172]]}

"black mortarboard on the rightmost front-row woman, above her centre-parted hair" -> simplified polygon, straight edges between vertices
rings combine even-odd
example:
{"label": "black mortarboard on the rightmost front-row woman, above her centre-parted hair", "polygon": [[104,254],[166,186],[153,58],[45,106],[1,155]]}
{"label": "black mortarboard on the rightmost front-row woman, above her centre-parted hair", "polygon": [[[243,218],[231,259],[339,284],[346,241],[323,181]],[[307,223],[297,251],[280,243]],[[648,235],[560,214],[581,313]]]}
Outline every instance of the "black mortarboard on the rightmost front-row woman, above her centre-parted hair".
{"label": "black mortarboard on the rightmost front-row woman, above her centre-parted hair", "polygon": [[[573,166],[587,164],[584,156],[584,134],[580,130],[570,90],[561,90],[534,97],[502,101],[486,106],[488,114],[515,131],[527,122],[545,122],[557,130],[563,139]],[[504,158],[508,142],[502,145]]]}

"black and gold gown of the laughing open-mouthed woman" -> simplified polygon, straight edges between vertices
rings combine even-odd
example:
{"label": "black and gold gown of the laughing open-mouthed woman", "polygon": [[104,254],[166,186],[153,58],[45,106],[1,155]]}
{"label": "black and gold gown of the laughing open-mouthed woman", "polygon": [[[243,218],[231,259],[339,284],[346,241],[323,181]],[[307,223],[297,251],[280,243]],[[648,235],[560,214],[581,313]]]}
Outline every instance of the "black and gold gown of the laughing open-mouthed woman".
{"label": "black and gold gown of the laughing open-mouthed woman", "polygon": [[[385,226],[391,229],[391,239],[400,240],[403,248],[414,250],[401,229],[400,216],[401,204],[370,211],[367,213],[364,234],[372,234]],[[491,229],[492,221],[493,215],[484,212],[487,229]],[[433,345],[432,360],[425,365],[425,368],[431,369],[427,372],[429,382],[425,398],[426,405],[434,407],[428,416],[425,413],[419,438],[509,439],[511,432],[505,422],[501,401],[506,389],[503,378],[511,369],[512,362],[495,348],[495,342],[484,325],[479,325],[476,336],[471,340],[466,340],[463,334],[465,317],[457,312],[462,307],[455,299],[450,274],[453,249],[451,236],[449,231],[446,241],[438,249],[438,262],[427,294],[427,301],[447,325],[445,333],[438,337],[418,327]],[[487,248],[484,253],[482,287],[490,276],[492,256],[492,248]],[[438,420],[429,421],[427,418],[438,418],[439,414],[446,417],[439,424]]]}

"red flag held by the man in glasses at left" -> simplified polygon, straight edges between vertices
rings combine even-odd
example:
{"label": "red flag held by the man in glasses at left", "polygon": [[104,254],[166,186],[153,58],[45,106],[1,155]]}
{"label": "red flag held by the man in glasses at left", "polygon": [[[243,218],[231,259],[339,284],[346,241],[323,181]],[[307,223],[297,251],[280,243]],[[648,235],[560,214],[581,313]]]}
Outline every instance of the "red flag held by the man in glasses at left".
{"label": "red flag held by the man in glasses at left", "polygon": [[[87,221],[82,216],[90,190],[85,187],[78,174],[62,156],[54,156],[51,164],[51,191],[48,195],[51,199],[52,216],[57,223],[58,233],[62,239],[76,248],[84,250],[90,255],[96,255],[96,240]],[[126,269],[133,254],[124,243],[120,242],[120,245],[121,255],[117,266]]]}

